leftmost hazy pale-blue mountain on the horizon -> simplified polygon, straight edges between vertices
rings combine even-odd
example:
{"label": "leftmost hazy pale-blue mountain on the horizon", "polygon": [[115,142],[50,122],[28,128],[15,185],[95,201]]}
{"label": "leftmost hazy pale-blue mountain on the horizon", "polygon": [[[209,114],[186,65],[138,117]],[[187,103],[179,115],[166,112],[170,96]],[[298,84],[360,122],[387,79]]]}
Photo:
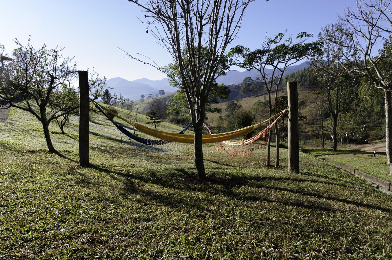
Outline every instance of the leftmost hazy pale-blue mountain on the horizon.
{"label": "leftmost hazy pale-blue mountain on the horizon", "polygon": [[132,100],[140,99],[140,95],[144,94],[145,98],[149,94],[158,94],[158,89],[151,87],[144,83],[138,83],[129,81],[120,77],[111,78],[106,80],[106,85],[113,88],[109,90],[116,94],[122,94],[123,97],[127,97]]}

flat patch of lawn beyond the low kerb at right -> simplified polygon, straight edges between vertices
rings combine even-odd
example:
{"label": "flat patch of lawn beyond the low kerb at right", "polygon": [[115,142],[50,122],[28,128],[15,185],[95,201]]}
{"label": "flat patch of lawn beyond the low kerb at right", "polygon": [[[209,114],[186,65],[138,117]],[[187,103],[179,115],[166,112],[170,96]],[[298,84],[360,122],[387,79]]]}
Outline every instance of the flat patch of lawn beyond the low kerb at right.
{"label": "flat patch of lawn beyond the low kerb at right", "polygon": [[392,181],[386,155],[377,154],[376,157],[373,157],[368,152],[352,148],[338,148],[336,152],[332,152],[332,149],[321,148],[307,148],[302,149],[302,151],[316,157],[328,158],[331,161],[356,168],[385,181]]}

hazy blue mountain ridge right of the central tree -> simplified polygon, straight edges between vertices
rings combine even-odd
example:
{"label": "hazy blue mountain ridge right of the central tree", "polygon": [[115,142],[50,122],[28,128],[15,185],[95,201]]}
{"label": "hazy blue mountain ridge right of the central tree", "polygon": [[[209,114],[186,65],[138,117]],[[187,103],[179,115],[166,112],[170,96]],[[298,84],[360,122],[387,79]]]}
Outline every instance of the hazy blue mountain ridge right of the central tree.
{"label": "hazy blue mountain ridge right of the central tree", "polygon": [[[299,65],[293,65],[293,66],[290,66],[286,69],[284,75],[287,75],[292,72],[296,72],[298,70],[301,70],[303,68],[308,68],[308,67],[309,67],[309,64],[306,62],[303,62]],[[270,74],[270,73],[272,73],[272,69],[266,69],[266,72],[267,72],[267,74]],[[246,77],[251,77],[252,79],[260,78],[260,73],[256,69],[252,69],[250,71],[243,71],[243,72],[240,72],[238,70],[230,70],[226,73],[225,76],[218,77],[216,82],[218,84],[224,83],[225,85],[237,85],[237,84],[241,84],[242,81]]]}

